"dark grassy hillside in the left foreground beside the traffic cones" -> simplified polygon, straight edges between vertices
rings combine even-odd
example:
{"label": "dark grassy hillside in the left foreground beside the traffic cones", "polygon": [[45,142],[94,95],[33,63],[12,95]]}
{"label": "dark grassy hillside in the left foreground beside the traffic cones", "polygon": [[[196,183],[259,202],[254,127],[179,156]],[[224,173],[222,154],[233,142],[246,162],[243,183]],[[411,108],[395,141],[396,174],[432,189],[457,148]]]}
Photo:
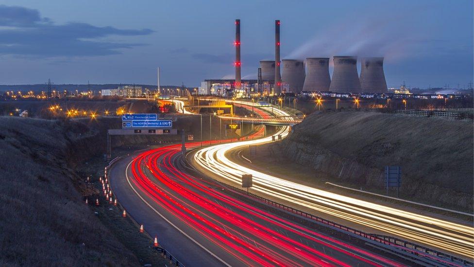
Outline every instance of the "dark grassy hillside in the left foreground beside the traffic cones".
{"label": "dark grassy hillside in the left foreground beside the traffic cones", "polygon": [[97,131],[19,117],[0,124],[0,266],[139,265],[85,205],[94,192],[70,168],[97,152],[71,157]]}

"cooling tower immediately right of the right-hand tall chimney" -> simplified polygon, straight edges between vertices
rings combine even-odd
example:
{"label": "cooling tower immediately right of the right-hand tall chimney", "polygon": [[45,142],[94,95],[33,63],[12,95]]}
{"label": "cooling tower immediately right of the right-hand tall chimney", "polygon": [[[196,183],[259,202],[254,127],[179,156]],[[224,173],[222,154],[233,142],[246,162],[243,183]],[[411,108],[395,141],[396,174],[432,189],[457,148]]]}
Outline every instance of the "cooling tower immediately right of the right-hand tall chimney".
{"label": "cooling tower immediately right of the right-hand tall chimney", "polygon": [[290,92],[299,93],[303,90],[305,83],[305,65],[303,61],[296,59],[283,59],[282,81],[288,84]]}

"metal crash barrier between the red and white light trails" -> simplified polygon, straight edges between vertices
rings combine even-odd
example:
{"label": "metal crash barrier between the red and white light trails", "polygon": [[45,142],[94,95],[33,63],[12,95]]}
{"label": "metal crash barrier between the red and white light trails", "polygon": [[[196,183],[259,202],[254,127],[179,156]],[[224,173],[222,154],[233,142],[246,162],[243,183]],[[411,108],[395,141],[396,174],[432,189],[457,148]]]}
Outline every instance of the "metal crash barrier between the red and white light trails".
{"label": "metal crash barrier between the red and white light trails", "polygon": [[271,206],[274,206],[276,208],[279,208],[279,209],[282,209],[284,211],[290,212],[292,214],[300,215],[302,217],[314,220],[314,221],[316,221],[316,222],[318,222],[322,225],[329,226],[333,229],[336,229],[336,230],[339,230],[339,231],[342,231],[342,232],[346,232],[346,233],[351,233],[352,235],[358,236],[359,238],[368,239],[368,240],[377,242],[381,245],[395,246],[395,249],[402,249],[405,252],[408,252],[409,254],[414,254],[414,255],[417,255],[417,256],[420,256],[420,257],[431,256],[434,259],[439,258],[440,260],[451,262],[453,264],[460,264],[462,266],[467,266],[467,267],[473,267],[474,266],[473,262],[464,260],[460,257],[456,257],[456,256],[453,256],[453,255],[450,255],[450,254],[447,254],[447,253],[444,253],[444,252],[441,252],[441,251],[438,251],[438,250],[435,250],[435,249],[426,248],[426,247],[423,247],[423,246],[418,245],[416,243],[409,242],[409,241],[406,241],[406,240],[403,240],[403,239],[399,239],[397,237],[392,237],[392,236],[387,236],[387,235],[379,235],[379,234],[367,233],[367,232],[364,232],[364,231],[360,231],[360,230],[357,230],[357,229],[354,229],[354,228],[351,228],[351,227],[347,227],[347,226],[344,226],[344,225],[336,223],[336,222],[326,220],[322,217],[300,211],[298,209],[289,207],[287,205],[280,204],[278,202],[267,199],[265,197],[252,194],[250,192],[247,192],[247,191],[245,191],[243,189],[240,189],[240,188],[237,188],[235,186],[232,186],[232,185],[229,185],[229,184],[226,184],[226,183],[223,183],[223,182],[219,182],[219,183],[222,186],[227,187],[227,188],[229,188],[233,191],[236,191],[241,195],[249,196],[249,197],[257,199],[257,200],[259,200],[259,201],[261,201],[265,204],[269,204]]}

